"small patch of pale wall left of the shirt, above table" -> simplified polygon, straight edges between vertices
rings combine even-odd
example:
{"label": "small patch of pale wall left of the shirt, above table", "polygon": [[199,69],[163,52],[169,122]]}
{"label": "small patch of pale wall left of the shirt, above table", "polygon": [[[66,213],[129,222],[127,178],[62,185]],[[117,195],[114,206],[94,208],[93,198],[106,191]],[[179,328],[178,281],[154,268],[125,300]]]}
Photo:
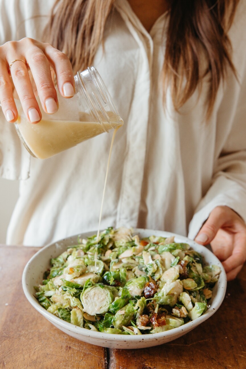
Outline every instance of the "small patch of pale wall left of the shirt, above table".
{"label": "small patch of pale wall left of the shirt, above table", "polygon": [[0,244],[5,244],[12,211],[18,199],[18,181],[0,178]]}

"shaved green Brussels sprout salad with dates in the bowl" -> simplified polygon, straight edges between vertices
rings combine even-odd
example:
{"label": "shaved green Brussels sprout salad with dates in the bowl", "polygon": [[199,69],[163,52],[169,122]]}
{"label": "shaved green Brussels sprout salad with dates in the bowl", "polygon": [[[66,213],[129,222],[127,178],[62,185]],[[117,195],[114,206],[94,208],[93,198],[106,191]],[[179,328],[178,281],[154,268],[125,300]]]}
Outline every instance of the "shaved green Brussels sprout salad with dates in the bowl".
{"label": "shaved green Brussels sprout salad with dates in the bowl", "polygon": [[79,327],[152,334],[205,313],[220,272],[174,237],[139,239],[132,229],[110,227],[51,259],[35,290],[42,307]]}

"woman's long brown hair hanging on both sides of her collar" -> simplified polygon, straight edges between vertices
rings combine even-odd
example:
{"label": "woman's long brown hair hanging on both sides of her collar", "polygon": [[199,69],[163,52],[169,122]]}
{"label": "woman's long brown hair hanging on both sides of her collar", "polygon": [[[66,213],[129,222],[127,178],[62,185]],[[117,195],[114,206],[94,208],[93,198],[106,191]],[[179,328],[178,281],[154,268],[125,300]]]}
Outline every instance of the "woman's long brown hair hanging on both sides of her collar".
{"label": "woman's long brown hair hanging on both sides of her collar", "polygon": [[[93,63],[115,0],[56,0],[45,29],[45,41],[65,52],[73,69]],[[169,26],[163,64],[164,92],[171,86],[178,111],[210,72],[207,117],[228,67],[236,74],[228,30],[239,0],[169,0]],[[202,70],[201,52],[207,60]]]}

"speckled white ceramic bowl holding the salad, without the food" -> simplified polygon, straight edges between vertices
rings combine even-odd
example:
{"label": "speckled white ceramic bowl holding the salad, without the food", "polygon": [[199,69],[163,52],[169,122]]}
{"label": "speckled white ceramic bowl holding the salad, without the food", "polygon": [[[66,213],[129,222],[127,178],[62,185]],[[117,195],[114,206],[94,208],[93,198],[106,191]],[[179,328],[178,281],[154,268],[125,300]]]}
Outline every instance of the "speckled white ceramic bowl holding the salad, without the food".
{"label": "speckled white ceramic bowl holding the salad, without the food", "polygon": [[[198,251],[203,256],[206,264],[215,264],[221,268],[219,280],[215,284],[213,290],[213,297],[211,300],[209,300],[210,307],[203,315],[193,321],[190,321],[187,324],[181,325],[181,327],[177,327],[166,332],[143,335],[118,335],[101,333],[77,327],[76,325],[67,323],[66,321],[49,313],[35,299],[34,286],[37,286],[42,282],[45,270],[50,267],[49,261],[51,258],[55,258],[56,256],[60,255],[63,251],[66,250],[67,246],[77,244],[77,235],[47,245],[39,250],[37,254],[32,256],[30,261],[25,266],[22,275],[22,287],[28,301],[32,304],[33,307],[35,307],[36,310],[39,311],[39,313],[41,313],[46,319],[48,319],[53,325],[55,325],[63,332],[69,334],[74,338],[79,339],[80,341],[109,348],[133,349],[161,345],[183,336],[184,334],[193,330],[193,328],[197,327],[197,325],[201,324],[209,317],[211,317],[211,315],[213,315],[221,305],[226,292],[225,270],[221,262],[216,258],[216,256],[206,247],[198,245],[197,243],[186,237],[179,236],[170,232],[146,229],[136,229],[135,232],[138,233],[141,238],[149,237],[150,235],[162,237],[170,237],[171,235],[174,235],[175,242],[186,242],[190,244],[195,251]],[[86,238],[95,233],[96,232],[87,232],[81,234],[81,237]]]}

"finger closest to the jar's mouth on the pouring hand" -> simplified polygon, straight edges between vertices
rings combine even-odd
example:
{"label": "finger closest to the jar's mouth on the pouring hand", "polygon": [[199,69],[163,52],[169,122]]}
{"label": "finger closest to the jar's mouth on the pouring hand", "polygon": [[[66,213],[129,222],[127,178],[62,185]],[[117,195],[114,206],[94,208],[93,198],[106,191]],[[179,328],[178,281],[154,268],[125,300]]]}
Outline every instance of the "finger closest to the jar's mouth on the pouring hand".
{"label": "finger closest to the jar's mouth on the pouring hand", "polygon": [[75,94],[75,80],[70,60],[63,52],[53,48],[50,44],[45,44],[44,53],[55,70],[60,94],[63,97],[72,97]]}

